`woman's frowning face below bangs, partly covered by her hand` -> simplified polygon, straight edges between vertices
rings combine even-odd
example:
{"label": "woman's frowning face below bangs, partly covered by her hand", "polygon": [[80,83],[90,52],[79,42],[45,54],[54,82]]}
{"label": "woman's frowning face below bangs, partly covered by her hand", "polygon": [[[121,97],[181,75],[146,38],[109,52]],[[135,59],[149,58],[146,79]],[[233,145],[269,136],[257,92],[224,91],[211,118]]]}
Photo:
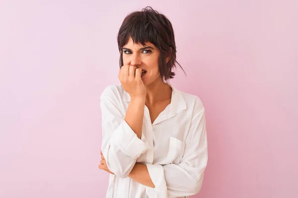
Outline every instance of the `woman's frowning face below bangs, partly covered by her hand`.
{"label": "woman's frowning face below bangs, partly covered by her hand", "polygon": [[145,74],[142,74],[142,80],[146,86],[156,80],[161,80],[161,78],[158,69],[160,51],[149,42],[145,43],[145,45],[134,44],[130,37],[127,44],[123,47],[123,64],[133,65],[141,68],[142,71],[146,71]]}

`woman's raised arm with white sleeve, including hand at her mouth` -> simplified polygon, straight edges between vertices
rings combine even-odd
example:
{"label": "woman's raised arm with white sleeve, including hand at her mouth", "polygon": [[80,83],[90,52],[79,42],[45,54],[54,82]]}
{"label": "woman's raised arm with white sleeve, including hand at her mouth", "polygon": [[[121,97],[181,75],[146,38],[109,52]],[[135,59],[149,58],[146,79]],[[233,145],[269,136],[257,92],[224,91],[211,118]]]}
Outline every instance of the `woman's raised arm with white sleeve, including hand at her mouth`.
{"label": "woman's raised arm with white sleeve, including hand at her mouth", "polygon": [[149,149],[142,136],[146,88],[141,75],[142,69],[132,65],[119,70],[118,78],[131,98],[125,116],[120,110],[119,93],[109,87],[101,95],[102,153],[108,169],[122,178],[129,175],[137,158]]}

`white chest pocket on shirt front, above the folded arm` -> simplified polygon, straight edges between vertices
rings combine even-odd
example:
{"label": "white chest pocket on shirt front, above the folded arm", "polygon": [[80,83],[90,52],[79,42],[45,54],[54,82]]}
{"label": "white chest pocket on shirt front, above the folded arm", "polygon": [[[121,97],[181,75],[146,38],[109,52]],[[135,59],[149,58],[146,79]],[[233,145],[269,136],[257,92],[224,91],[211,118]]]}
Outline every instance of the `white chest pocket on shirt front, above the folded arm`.
{"label": "white chest pocket on shirt front, above the folded arm", "polygon": [[179,164],[184,153],[184,148],[184,142],[170,137],[168,153],[165,158],[161,162],[157,162],[157,164]]}

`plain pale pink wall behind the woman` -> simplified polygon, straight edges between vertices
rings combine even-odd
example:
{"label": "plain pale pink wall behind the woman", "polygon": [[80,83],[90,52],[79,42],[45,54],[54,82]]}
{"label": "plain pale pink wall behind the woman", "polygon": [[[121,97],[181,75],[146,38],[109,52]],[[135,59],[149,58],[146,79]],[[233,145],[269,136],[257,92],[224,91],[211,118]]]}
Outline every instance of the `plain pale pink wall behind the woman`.
{"label": "plain pale pink wall behind the woman", "polygon": [[119,82],[122,20],[146,5],[174,27],[187,77],[171,83],[206,108],[192,198],[297,198],[296,0],[1,0],[0,197],[105,197],[99,96]]}

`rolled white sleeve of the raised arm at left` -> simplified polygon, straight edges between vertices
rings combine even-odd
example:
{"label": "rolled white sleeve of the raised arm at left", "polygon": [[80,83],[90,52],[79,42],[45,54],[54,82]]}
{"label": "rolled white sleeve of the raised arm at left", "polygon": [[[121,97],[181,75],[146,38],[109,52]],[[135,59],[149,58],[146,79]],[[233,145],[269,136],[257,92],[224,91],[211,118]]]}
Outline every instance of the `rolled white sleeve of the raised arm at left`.
{"label": "rolled white sleeve of the raised arm at left", "polygon": [[102,113],[101,150],[107,166],[116,176],[126,178],[137,158],[150,147],[144,134],[141,139],[125,121],[118,105],[109,97],[100,96]]}

